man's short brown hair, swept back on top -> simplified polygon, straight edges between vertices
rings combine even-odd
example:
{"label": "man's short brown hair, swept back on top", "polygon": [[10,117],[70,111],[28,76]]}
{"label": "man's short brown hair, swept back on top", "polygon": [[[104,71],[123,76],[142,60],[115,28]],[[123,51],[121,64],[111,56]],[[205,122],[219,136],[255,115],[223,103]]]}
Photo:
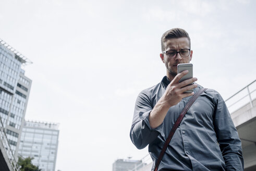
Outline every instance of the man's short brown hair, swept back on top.
{"label": "man's short brown hair, swept back on top", "polygon": [[162,38],[161,38],[162,52],[165,50],[164,42],[166,42],[167,39],[172,39],[172,38],[188,38],[189,47],[191,45],[190,38],[187,31],[180,28],[174,28],[164,32],[164,34],[162,35]]}

